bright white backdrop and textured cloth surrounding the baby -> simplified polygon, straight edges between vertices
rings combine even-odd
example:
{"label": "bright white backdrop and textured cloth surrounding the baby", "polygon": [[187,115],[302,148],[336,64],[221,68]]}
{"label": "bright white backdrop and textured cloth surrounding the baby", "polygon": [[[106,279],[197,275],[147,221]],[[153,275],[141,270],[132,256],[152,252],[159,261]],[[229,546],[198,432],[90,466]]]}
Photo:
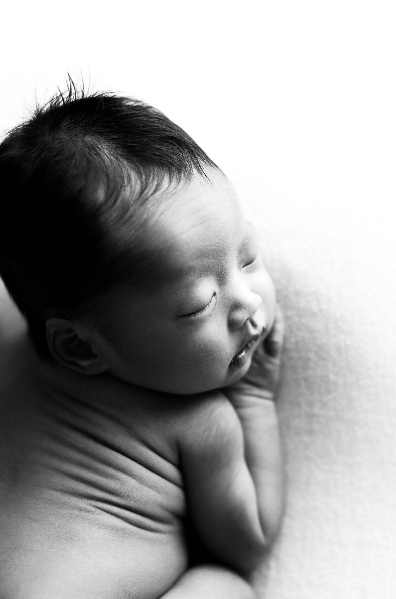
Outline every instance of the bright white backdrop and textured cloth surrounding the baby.
{"label": "bright white backdrop and textured cloth surrounding the baby", "polygon": [[288,323],[271,599],[396,596],[394,3],[14,2],[0,131],[65,87],[134,95],[250,205]]}

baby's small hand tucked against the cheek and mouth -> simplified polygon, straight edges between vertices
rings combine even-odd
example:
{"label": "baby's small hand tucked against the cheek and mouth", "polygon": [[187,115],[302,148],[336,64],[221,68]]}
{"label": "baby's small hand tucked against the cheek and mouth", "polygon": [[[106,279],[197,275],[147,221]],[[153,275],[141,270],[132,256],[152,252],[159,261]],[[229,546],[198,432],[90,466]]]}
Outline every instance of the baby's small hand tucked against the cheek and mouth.
{"label": "baby's small hand tucked against the cheek and mouth", "polygon": [[278,305],[274,324],[267,337],[259,343],[255,350],[252,364],[245,376],[222,389],[235,408],[241,407],[247,397],[274,399],[279,381],[283,334],[283,316]]}

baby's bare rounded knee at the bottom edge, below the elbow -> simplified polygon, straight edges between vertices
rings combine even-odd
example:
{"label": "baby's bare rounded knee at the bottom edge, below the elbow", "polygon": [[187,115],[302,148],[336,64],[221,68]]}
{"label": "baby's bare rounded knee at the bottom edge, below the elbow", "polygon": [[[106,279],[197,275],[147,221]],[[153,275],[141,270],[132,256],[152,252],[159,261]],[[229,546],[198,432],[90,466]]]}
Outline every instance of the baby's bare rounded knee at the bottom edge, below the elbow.
{"label": "baby's bare rounded knee at the bottom edge, below the elbow", "polygon": [[256,599],[256,594],[231,570],[198,565],[187,570],[161,599]]}

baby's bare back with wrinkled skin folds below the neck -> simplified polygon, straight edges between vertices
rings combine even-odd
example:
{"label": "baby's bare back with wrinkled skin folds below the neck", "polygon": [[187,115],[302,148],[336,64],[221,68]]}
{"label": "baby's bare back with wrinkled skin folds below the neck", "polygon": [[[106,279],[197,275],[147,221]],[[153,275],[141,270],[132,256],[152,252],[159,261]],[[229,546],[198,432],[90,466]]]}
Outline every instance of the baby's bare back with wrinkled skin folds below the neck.
{"label": "baby's bare back with wrinkled skin folds below the neck", "polygon": [[1,385],[0,597],[160,597],[186,568],[177,402],[29,364]]}

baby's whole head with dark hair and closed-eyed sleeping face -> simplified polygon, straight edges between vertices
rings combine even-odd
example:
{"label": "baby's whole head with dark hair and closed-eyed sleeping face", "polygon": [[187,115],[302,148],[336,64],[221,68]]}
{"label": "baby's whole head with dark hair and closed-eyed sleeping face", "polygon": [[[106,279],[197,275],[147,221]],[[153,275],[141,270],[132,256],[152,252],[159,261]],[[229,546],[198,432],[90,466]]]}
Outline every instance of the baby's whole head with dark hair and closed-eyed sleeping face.
{"label": "baby's whole head with dark hair and closed-eyed sleeping face", "polygon": [[192,394],[246,372],[275,295],[223,173],[162,113],[69,93],[0,146],[0,274],[40,355]]}

